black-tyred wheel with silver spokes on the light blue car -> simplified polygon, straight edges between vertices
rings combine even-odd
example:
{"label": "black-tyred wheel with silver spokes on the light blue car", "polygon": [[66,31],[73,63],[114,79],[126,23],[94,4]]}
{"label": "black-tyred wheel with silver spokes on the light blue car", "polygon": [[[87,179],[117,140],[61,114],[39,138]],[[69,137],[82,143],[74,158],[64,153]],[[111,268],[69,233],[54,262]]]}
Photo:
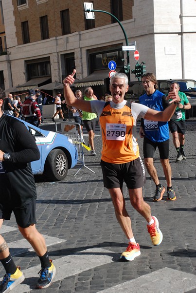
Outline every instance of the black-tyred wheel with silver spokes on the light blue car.
{"label": "black-tyred wheel with silver spokes on the light blue car", "polygon": [[47,159],[45,171],[53,181],[63,180],[68,173],[68,159],[61,149],[53,149]]}

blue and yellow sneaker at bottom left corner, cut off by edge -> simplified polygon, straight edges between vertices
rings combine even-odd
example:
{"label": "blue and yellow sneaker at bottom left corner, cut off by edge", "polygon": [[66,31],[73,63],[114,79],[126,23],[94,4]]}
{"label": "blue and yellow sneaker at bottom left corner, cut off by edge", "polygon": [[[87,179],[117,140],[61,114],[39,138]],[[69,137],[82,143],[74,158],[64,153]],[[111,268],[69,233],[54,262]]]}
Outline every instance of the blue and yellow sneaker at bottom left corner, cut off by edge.
{"label": "blue and yellow sneaker at bottom left corner, cut off by edge", "polygon": [[13,288],[24,281],[24,274],[17,267],[14,274],[6,273],[0,283],[0,293],[10,292]]}

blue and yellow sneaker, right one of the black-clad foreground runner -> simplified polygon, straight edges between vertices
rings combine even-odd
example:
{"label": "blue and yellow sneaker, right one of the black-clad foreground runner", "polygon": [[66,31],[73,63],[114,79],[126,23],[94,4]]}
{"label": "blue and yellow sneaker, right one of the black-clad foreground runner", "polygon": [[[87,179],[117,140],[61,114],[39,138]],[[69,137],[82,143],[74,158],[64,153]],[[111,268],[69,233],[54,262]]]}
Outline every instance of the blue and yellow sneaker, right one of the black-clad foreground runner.
{"label": "blue and yellow sneaker, right one of the black-clad foreground runner", "polygon": [[51,266],[50,268],[42,268],[40,273],[36,289],[48,288],[52,284],[52,280],[56,273],[56,268],[54,267],[52,260],[50,259]]}

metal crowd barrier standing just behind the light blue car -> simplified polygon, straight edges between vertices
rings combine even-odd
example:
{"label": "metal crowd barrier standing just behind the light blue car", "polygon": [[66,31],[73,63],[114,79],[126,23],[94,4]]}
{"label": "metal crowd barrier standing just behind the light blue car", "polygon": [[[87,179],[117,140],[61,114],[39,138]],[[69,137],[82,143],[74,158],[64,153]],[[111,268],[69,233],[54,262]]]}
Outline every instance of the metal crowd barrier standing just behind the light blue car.
{"label": "metal crowd barrier standing just behind the light blue car", "polygon": [[[55,122],[56,132],[59,132],[61,134],[64,134],[70,137],[71,140],[73,141],[73,144],[77,148],[78,163],[80,164],[80,167],[78,168],[77,172],[73,176],[75,176],[82,169],[82,167],[85,167],[89,169],[89,171],[91,171],[92,173],[95,173],[93,170],[91,170],[89,167],[85,165],[84,146],[82,144],[82,129],[80,124],[75,122],[70,122],[70,121],[61,121],[60,122],[61,131],[57,129],[57,124],[59,124],[59,122]],[[80,134],[78,133],[77,127],[79,127]]]}

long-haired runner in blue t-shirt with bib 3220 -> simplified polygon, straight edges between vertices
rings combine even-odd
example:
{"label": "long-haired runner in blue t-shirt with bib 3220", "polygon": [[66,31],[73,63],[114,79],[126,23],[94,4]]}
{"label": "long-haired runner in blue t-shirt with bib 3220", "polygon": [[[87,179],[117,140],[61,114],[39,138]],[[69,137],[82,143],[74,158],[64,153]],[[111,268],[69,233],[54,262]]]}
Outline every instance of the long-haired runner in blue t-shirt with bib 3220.
{"label": "long-haired runner in blue t-shirt with bib 3220", "polygon": [[[153,73],[147,72],[142,77],[145,94],[139,98],[142,105],[146,105],[157,111],[166,109],[170,102],[167,97],[158,90],[158,83]],[[168,122],[141,120],[140,137],[143,141],[143,156],[145,167],[156,185],[154,201],[160,201],[165,192],[165,187],[160,184],[157,170],[153,164],[153,155],[156,147],[160,151],[160,163],[167,182],[167,199],[176,200],[176,194],[172,187],[172,169],[169,163],[169,126]]]}

